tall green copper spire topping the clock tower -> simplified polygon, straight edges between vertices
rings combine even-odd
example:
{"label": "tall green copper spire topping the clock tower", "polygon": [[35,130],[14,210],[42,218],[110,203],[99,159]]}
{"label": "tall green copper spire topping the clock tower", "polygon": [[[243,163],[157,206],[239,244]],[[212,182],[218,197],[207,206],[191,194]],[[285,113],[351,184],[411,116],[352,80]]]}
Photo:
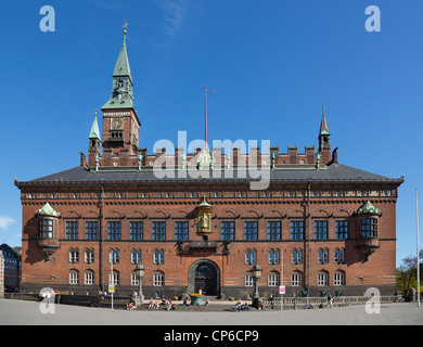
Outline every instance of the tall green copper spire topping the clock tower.
{"label": "tall green copper spire topping the clock tower", "polygon": [[113,72],[112,97],[102,110],[133,108],[133,83],[126,50],[126,33],[124,30],[124,43]]}

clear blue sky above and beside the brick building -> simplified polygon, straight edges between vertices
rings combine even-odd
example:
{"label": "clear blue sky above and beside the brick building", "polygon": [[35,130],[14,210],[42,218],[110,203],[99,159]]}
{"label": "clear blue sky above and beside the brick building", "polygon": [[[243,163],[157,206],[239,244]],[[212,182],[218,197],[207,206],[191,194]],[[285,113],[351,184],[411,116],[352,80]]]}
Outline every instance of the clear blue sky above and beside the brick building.
{"label": "clear blue sky above and beside the brick building", "polygon": [[[55,31],[42,33],[42,5]],[[369,5],[381,31],[368,33]],[[140,146],[209,139],[318,145],[325,105],[342,164],[399,178],[397,262],[415,253],[423,196],[423,2],[420,0],[16,0],[2,3],[0,242],[21,244],[13,180],[79,165],[94,110],[108,100],[123,25],[142,123]],[[422,205],[422,203],[421,203]],[[423,237],[422,237],[423,239]]]}

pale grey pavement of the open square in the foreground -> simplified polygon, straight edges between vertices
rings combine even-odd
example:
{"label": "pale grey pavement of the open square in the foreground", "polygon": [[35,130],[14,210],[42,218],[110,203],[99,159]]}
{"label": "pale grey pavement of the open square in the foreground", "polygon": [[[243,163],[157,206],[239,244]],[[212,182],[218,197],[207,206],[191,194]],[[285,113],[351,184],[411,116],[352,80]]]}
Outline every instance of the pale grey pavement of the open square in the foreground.
{"label": "pale grey pavement of the open square in the foreground", "polygon": [[[111,310],[54,305],[54,313],[46,313],[42,303],[0,299],[1,325],[422,325],[423,306],[413,303],[383,304],[380,313],[367,313],[364,305],[312,310],[251,309],[233,312],[230,303],[202,311]],[[40,310],[44,311],[44,313]],[[51,307],[52,309],[52,307]]]}

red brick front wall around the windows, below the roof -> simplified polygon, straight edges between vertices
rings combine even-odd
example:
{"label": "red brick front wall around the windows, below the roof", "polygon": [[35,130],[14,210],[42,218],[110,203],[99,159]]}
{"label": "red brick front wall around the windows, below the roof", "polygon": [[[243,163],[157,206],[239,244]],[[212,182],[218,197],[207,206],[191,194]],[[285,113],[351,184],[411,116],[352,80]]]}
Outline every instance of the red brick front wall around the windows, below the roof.
{"label": "red brick front wall around the windows, below the roof", "polygon": [[[72,188],[75,190],[75,188]],[[63,193],[70,191],[70,188],[63,189]],[[245,286],[245,274],[252,268],[252,265],[245,264],[245,253],[247,249],[256,252],[257,264],[262,269],[260,280],[260,294],[268,295],[277,293],[277,286],[268,286],[268,275],[270,272],[281,273],[281,264],[269,264],[269,250],[279,249],[280,257],[283,257],[283,284],[287,286],[287,295],[298,295],[304,286],[309,284],[310,294],[318,295],[319,291],[326,290],[334,292],[342,290],[345,294],[355,292],[364,292],[369,286],[376,286],[383,291],[395,292],[395,203],[393,196],[373,196],[371,198],[374,206],[379,207],[382,216],[379,217],[379,246],[374,254],[369,256],[368,261],[362,262],[356,249],[356,239],[360,237],[359,222],[354,217],[354,211],[364,204],[369,197],[361,197],[360,189],[356,189],[355,196],[336,196],[338,189],[329,192],[329,196],[322,192],[319,196],[311,197],[310,218],[307,218],[307,197],[303,194],[305,187],[292,188],[287,191],[294,192],[294,195],[287,196],[272,190],[271,197],[240,197],[236,190],[219,190],[219,197],[213,197],[215,189],[197,191],[193,198],[164,198],[139,197],[130,198],[134,191],[130,188],[120,188],[111,190],[106,188],[103,231],[104,243],[100,241],[85,240],[85,222],[98,220],[102,224],[101,200],[94,195],[98,191],[94,189],[85,191],[91,194],[91,198],[81,198],[81,191],[73,198],[56,198],[50,201],[50,204],[60,211],[61,218],[57,219],[55,227],[55,237],[60,242],[59,250],[47,259],[46,255],[37,246],[38,220],[35,211],[43,206],[46,200],[26,198],[23,192],[23,288],[34,288],[38,286],[59,287],[61,290],[73,290],[77,293],[85,293],[87,290],[97,291],[102,282],[102,274],[105,275],[104,282],[107,284],[110,264],[110,249],[119,250],[119,264],[114,269],[119,272],[119,290],[130,293],[136,286],[131,286],[131,272],[136,265],[131,264],[132,249],[141,249],[142,264],[145,267],[145,278],[143,280],[144,292],[152,295],[159,293],[187,292],[192,288],[189,281],[190,267],[200,259],[213,261],[219,269],[218,285],[220,292],[227,296],[247,295],[253,287]],[[342,188],[346,191],[345,188]],[[166,191],[166,190],[164,190]],[[164,191],[162,193],[164,193]],[[168,190],[171,191],[171,190]],[[175,190],[174,190],[175,191]],[[187,189],[195,192],[195,188]],[[217,191],[217,190],[216,190]],[[278,193],[279,192],[279,193]],[[148,192],[148,193],[151,193]],[[189,241],[202,241],[203,235],[197,233],[196,228],[196,206],[200,203],[200,195],[207,194],[207,201],[211,208],[211,233],[208,234],[208,241],[217,241],[216,248],[190,248]],[[48,193],[46,193],[48,194]],[[74,196],[68,193],[68,196]],[[95,193],[97,194],[97,193]],[[117,198],[116,196],[123,197]],[[159,194],[161,196],[163,194]],[[232,197],[222,197],[232,195]],[[59,196],[62,196],[59,194]],[[86,195],[88,196],[88,195]],[[187,195],[185,195],[187,196]],[[274,196],[274,197],[273,197]],[[349,221],[349,239],[335,239],[335,221]],[[118,220],[121,222],[121,240],[107,240],[107,222]],[[129,223],[131,220],[143,221],[143,241],[131,241],[129,237]],[[152,240],[152,221],[166,221],[166,241],[157,242]],[[189,241],[184,243],[184,252],[180,253],[178,243],[174,236],[174,224],[176,221],[189,221]],[[227,246],[220,240],[220,222],[222,220],[233,220],[235,223],[235,240],[231,241],[229,252]],[[244,241],[244,222],[254,220],[258,222],[258,240]],[[282,240],[267,240],[267,222],[279,220],[282,226]],[[291,240],[290,223],[292,220],[303,220],[305,226],[305,240]],[[313,240],[315,220],[328,221],[329,235],[326,240]],[[79,222],[79,239],[66,240],[66,221]],[[310,222],[310,228],[308,223]],[[307,233],[310,231],[310,242],[307,242]],[[100,236],[99,236],[100,237]],[[84,252],[86,248],[94,250],[94,262],[86,264]],[[292,250],[302,249],[303,262],[292,264]],[[329,259],[326,264],[318,262],[319,249],[328,249]],[[335,248],[345,249],[344,264],[334,262]],[[79,249],[79,262],[69,262],[69,250]],[[163,249],[165,261],[163,265],[154,264],[154,250]],[[103,264],[101,261],[102,250],[104,250]],[[197,262],[196,262],[197,264]],[[69,284],[69,271],[79,272],[79,283]],[[84,285],[84,273],[86,270],[94,272],[94,284]],[[155,287],[153,285],[153,274],[162,271],[165,274],[165,286]],[[303,286],[291,286],[291,275],[298,271],[303,275]],[[318,286],[318,273],[324,271],[328,273],[328,286]],[[345,274],[345,285],[334,286],[333,275],[336,271]],[[390,294],[390,293],[388,293]]]}

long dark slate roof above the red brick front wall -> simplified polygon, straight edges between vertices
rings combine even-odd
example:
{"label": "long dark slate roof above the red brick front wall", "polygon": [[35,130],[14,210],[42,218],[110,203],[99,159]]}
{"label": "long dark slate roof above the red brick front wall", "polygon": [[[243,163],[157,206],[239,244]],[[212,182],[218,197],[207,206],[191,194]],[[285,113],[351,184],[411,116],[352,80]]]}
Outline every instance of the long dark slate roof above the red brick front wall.
{"label": "long dark slate roof above the red brick front wall", "polygon": [[[162,171],[161,174],[163,174]],[[28,182],[15,182],[17,187],[41,185],[41,184],[107,184],[107,183],[134,183],[138,185],[152,183],[221,183],[234,184],[251,181],[259,181],[266,178],[266,174],[236,170],[229,175],[228,171],[215,169],[213,171],[189,170],[185,177],[181,177],[183,171],[166,171],[167,177],[157,177],[153,168],[143,168],[138,171],[136,167],[100,168],[99,171],[89,170],[78,166],[62,172],[38,178]],[[269,171],[268,171],[269,172]],[[262,174],[262,176],[260,176]],[[194,176],[195,175],[195,176]],[[200,176],[202,175],[202,176]],[[206,177],[204,177],[206,175]],[[208,175],[208,176],[207,176]],[[200,177],[198,177],[200,176]],[[270,170],[270,182],[279,183],[394,183],[401,184],[400,179],[390,179],[384,176],[371,174],[342,164],[332,164],[329,167],[322,166],[319,170],[313,165],[292,165],[277,167]]]}

